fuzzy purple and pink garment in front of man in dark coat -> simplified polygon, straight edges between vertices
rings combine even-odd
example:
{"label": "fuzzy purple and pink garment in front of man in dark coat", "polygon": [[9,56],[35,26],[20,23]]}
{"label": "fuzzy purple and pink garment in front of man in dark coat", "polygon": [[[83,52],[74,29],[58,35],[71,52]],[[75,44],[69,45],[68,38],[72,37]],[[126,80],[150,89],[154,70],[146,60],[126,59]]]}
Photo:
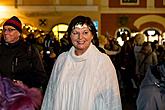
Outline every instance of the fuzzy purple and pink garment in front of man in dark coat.
{"label": "fuzzy purple and pink garment in front of man in dark coat", "polygon": [[40,110],[42,92],[0,76],[0,110]]}

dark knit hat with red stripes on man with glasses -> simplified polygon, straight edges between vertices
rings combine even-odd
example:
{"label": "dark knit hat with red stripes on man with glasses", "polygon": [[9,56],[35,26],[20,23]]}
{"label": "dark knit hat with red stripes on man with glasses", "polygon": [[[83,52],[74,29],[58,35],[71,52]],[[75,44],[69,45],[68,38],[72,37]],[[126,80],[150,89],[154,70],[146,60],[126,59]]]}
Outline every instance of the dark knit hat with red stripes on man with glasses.
{"label": "dark knit hat with red stripes on man with glasses", "polygon": [[4,25],[4,26],[12,26],[14,27],[16,30],[18,30],[20,33],[22,33],[22,23],[21,21],[16,17],[16,16],[13,16],[11,17],[10,19],[8,19]]}

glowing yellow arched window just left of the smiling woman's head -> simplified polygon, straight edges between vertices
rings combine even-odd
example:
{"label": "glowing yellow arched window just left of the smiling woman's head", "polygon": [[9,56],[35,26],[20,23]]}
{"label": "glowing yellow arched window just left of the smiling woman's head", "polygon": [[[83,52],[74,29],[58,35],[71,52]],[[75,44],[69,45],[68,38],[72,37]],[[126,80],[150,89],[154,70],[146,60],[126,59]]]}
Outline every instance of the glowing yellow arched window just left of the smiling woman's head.
{"label": "glowing yellow arched window just left of the smiling woman's head", "polygon": [[58,41],[64,36],[68,29],[67,24],[58,24],[52,28],[52,31]]}

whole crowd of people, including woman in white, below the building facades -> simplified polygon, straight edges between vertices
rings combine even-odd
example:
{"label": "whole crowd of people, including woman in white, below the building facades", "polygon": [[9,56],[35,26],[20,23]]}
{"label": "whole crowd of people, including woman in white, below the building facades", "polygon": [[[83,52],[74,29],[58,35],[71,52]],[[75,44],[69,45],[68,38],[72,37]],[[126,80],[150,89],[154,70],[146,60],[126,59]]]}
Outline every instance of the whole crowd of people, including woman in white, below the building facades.
{"label": "whole crowd of people, including woman in white, below the building facades", "polygon": [[[125,110],[129,102],[132,110],[165,109],[165,46],[158,41],[123,34],[120,46],[116,37],[98,36],[86,16],[73,18],[60,41],[51,31],[26,31],[16,16],[3,24],[0,87],[9,90],[0,88],[0,109]],[[26,103],[16,106],[20,100]]]}

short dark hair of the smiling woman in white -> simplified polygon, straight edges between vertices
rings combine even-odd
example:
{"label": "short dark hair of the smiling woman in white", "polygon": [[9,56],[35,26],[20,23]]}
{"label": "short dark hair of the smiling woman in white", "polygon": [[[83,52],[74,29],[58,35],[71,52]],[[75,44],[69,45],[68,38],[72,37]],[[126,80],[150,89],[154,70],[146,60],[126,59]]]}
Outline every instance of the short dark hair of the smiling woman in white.
{"label": "short dark hair of the smiling woman in white", "polygon": [[[76,16],[75,18],[73,18],[71,20],[71,22],[68,26],[68,30],[67,30],[68,40],[69,40],[70,43],[71,43],[71,40],[70,40],[71,32],[75,28],[75,25],[77,25],[77,24],[81,24],[81,25],[86,24],[90,28],[90,31],[93,34],[93,40],[97,39],[97,30],[96,30],[95,25],[93,24],[91,18],[86,17],[86,16]],[[96,41],[94,41],[93,43],[95,44],[95,42]]]}

